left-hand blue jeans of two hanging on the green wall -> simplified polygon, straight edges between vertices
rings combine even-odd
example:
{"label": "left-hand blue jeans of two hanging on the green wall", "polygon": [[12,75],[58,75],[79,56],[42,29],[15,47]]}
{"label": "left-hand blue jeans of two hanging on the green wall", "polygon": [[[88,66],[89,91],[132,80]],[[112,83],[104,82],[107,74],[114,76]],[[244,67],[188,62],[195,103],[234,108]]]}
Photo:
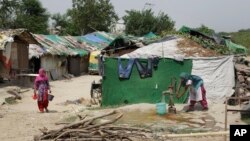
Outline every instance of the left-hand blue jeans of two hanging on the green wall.
{"label": "left-hand blue jeans of two hanging on the green wall", "polygon": [[119,78],[122,79],[128,79],[130,77],[130,74],[132,72],[132,68],[134,65],[135,59],[131,58],[128,60],[127,66],[124,68],[122,66],[122,61],[121,58],[118,58],[118,73],[119,73]]}

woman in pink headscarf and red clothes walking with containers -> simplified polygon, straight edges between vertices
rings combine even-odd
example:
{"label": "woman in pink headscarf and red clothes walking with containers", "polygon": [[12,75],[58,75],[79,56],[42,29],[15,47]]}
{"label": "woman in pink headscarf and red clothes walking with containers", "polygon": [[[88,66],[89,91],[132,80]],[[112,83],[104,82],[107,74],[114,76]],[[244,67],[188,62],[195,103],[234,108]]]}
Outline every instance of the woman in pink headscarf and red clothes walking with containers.
{"label": "woman in pink headscarf and red clothes walking with containers", "polygon": [[[36,93],[37,91],[37,93]],[[34,93],[37,94],[37,104],[40,112],[44,112],[44,109],[46,112],[49,112],[48,110],[48,91],[51,92],[50,86],[49,86],[49,80],[46,76],[46,72],[43,68],[39,70],[39,75],[35,79],[35,85],[34,85]]]}

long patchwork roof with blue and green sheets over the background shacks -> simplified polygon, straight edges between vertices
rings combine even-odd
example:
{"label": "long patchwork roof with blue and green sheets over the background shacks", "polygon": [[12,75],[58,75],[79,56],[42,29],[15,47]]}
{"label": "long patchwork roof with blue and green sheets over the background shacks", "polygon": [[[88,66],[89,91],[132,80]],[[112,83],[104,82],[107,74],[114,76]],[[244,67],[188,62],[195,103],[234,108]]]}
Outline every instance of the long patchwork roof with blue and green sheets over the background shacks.
{"label": "long patchwork roof with blue and green sheets over the background shacks", "polygon": [[106,32],[94,32],[84,36],[58,36],[34,34],[34,38],[52,55],[81,55],[102,50],[109,46],[115,36]]}

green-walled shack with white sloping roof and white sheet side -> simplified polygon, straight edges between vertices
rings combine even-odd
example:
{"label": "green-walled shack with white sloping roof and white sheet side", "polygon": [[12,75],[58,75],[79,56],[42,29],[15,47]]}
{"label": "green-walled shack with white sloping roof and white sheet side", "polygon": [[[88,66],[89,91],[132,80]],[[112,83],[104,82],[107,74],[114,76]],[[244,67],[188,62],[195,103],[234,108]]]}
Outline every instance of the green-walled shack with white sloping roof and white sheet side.
{"label": "green-walled shack with white sloping roof and white sheet side", "polygon": [[[223,98],[231,96],[235,86],[233,56],[223,56],[199,46],[192,49],[194,43],[180,46],[183,45],[180,44],[183,40],[185,39],[176,36],[164,38],[121,56],[121,62],[119,58],[106,58],[102,105],[158,103],[162,100],[162,91],[168,88],[171,79],[175,77],[179,82],[181,72],[192,73],[204,79],[209,102],[223,102]],[[204,57],[207,53],[210,56]],[[156,69],[152,69],[151,76],[142,78],[136,64],[131,71],[128,69],[127,62],[133,58],[144,64],[144,68],[147,68],[149,58],[160,59]],[[127,79],[120,79],[120,70],[131,74]],[[183,103],[187,98],[186,94],[181,99],[175,98],[174,101]],[[165,100],[168,102],[167,96]]]}

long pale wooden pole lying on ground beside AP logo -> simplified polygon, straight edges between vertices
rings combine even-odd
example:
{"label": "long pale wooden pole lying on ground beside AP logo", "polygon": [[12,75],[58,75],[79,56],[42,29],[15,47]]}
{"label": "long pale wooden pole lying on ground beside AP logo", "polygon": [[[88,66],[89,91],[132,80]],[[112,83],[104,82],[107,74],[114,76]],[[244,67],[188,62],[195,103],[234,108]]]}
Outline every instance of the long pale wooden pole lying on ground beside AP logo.
{"label": "long pale wooden pole lying on ground beside AP logo", "polygon": [[229,135],[229,131],[190,133],[190,134],[168,134],[166,137],[167,138],[180,138],[180,137],[222,136],[222,135]]}

